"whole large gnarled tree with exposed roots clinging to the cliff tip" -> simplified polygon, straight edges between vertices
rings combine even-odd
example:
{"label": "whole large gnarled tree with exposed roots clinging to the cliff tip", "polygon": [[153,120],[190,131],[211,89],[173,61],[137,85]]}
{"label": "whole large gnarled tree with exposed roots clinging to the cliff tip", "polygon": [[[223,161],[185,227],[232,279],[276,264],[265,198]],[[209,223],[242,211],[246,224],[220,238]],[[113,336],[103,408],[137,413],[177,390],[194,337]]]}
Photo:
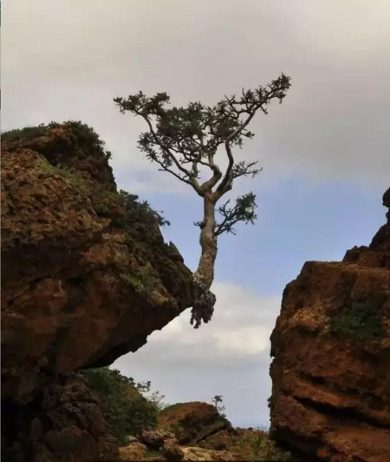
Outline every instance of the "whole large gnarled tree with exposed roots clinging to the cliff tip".
{"label": "whole large gnarled tree with exposed roots clinging to the cliff tip", "polygon": [[[221,197],[230,191],[239,177],[255,177],[262,169],[258,162],[235,161],[233,148],[242,148],[244,138],[254,133],[247,126],[260,111],[267,114],[273,99],[281,103],[290,87],[290,77],[281,74],[265,87],[244,90],[239,97],[226,96],[215,106],[190,102],[186,107],[168,107],[169,96],[157,93],[152,97],[143,92],[127,98],[114,98],[122,114],[126,111],[142,117],[148,130],[138,139],[139,149],[156,162],[159,170],[167,171],[178,181],[189,185],[203,199],[203,217],[194,223],[200,228],[201,256],[194,273],[196,300],[191,324],[195,328],[207,323],[212,315],[215,296],[209,289],[214,279],[217,238],[222,233],[235,233],[238,222],[254,223],[256,196],[252,192],[227,200],[216,208]],[[220,149],[221,148],[221,149]],[[225,158],[227,166],[220,167]],[[218,161],[218,163],[217,163]],[[221,220],[216,221],[216,209]]]}

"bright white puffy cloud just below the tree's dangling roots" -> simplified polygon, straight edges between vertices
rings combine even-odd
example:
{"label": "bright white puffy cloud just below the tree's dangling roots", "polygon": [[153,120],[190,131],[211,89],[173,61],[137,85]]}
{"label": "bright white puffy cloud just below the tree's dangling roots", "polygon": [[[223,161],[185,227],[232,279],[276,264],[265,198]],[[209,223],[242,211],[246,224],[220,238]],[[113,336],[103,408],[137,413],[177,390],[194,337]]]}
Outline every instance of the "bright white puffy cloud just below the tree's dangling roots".
{"label": "bright white puffy cloud just below the tree's dangling roots", "polygon": [[214,283],[211,289],[217,303],[209,324],[194,330],[187,310],[151,334],[149,348],[174,351],[167,361],[175,364],[188,363],[191,358],[191,365],[196,361],[211,366],[223,361],[230,364],[232,358],[248,360],[268,351],[280,297],[261,297],[250,289],[221,282]]}

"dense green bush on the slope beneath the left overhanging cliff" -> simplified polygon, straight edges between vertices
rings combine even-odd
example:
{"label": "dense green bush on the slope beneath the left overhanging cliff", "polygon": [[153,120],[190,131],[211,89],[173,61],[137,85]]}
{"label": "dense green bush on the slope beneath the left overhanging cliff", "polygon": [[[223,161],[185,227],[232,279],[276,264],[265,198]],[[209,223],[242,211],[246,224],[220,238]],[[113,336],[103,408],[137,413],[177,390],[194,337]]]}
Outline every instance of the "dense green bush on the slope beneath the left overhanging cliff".
{"label": "dense green bush on the slope beneath the left overhanging cliff", "polygon": [[80,374],[99,396],[104,418],[119,444],[125,445],[128,435],[156,427],[158,408],[141,395],[150,391],[150,381],[135,383],[108,367],[86,369]]}

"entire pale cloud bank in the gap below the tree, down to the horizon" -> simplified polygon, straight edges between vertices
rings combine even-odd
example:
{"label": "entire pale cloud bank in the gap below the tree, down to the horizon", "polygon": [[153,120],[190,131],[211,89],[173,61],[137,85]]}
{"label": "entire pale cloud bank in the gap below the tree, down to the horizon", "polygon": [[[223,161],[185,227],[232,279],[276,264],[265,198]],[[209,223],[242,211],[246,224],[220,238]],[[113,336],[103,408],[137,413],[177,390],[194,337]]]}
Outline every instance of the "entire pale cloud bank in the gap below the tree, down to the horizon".
{"label": "entire pale cloud bank in the gap below the tree, down to the horizon", "polygon": [[261,297],[242,286],[217,282],[215,314],[199,329],[186,310],[135,353],[114,367],[137,380],[151,380],[169,403],[224,396],[235,425],[268,424],[269,336],[280,297]]}

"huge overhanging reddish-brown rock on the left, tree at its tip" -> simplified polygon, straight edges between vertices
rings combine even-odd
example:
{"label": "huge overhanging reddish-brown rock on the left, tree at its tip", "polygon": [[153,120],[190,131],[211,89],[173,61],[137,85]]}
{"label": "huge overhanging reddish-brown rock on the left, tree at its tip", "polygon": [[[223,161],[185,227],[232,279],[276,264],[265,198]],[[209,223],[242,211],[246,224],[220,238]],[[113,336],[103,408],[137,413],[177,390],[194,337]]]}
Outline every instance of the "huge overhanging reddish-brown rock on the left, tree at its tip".
{"label": "huge overhanging reddish-brown rock on the left, tree at its tip", "polygon": [[2,135],[2,399],[16,413],[191,306],[190,270],[147,204],[117,193],[109,157],[81,123]]}

